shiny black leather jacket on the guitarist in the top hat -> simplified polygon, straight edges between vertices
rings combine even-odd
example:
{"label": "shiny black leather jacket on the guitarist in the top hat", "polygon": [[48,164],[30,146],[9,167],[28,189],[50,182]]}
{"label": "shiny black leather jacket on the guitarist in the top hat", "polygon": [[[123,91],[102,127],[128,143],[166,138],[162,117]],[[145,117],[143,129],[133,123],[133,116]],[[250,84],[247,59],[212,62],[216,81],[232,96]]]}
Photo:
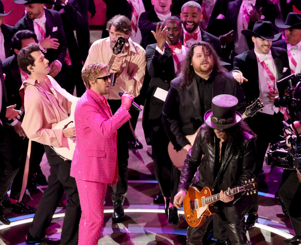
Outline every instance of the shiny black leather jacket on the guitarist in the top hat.
{"label": "shiny black leather jacket on the guitarist in the top hat", "polygon": [[[193,147],[187,154],[181,171],[179,189],[188,190],[189,185],[203,188],[214,184],[215,144],[211,145],[205,139],[206,126],[203,124]],[[215,142],[217,138],[215,138]],[[201,159],[202,154],[204,155]],[[228,142],[223,164],[224,168],[215,185],[215,193],[220,190],[231,189],[245,183],[245,180],[255,178],[256,144],[255,138],[244,132],[244,141],[239,151],[234,153],[231,143]],[[199,166],[199,169],[197,170]],[[196,173],[197,171],[197,173]],[[195,178],[193,179],[194,174]],[[234,200],[228,203],[217,202],[220,212],[232,223],[238,223],[251,208],[251,195],[235,194]],[[221,207],[221,208],[220,208]]]}

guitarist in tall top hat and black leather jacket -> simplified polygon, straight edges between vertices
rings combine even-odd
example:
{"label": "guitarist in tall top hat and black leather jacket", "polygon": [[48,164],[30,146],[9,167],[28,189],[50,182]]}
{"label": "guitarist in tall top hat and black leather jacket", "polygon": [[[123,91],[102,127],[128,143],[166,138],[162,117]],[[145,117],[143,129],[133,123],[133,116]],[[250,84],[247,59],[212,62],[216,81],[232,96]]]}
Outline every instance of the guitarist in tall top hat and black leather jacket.
{"label": "guitarist in tall top hat and black leather jacket", "polygon": [[202,226],[188,227],[187,245],[200,244],[212,219],[214,230],[218,228],[217,222],[224,224],[232,245],[248,244],[244,216],[252,205],[251,195],[227,196],[223,192],[255,176],[255,137],[236,112],[237,104],[238,99],[232,95],[222,94],[212,99],[212,109],[205,113],[204,124],[182,167],[174,198],[177,208],[191,183],[200,190],[212,186],[214,193],[220,193],[219,201],[214,204],[216,215],[207,216]]}

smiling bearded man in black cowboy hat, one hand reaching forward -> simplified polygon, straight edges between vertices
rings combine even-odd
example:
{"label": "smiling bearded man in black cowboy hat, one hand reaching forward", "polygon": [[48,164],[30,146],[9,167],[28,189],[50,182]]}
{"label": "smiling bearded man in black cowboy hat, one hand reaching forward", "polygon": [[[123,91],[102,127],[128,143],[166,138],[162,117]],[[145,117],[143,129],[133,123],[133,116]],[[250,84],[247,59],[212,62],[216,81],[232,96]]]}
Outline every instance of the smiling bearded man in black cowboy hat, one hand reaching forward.
{"label": "smiling bearded man in black cowboy hat, one hand reaching forward", "polygon": [[[273,25],[269,21],[257,21],[251,30],[241,33],[251,36],[254,49],[234,57],[232,76],[241,83],[246,102],[251,103],[258,97],[266,107],[248,118],[248,123],[257,134],[256,176],[262,169],[264,155],[269,143],[276,143],[282,135],[282,121],[287,119],[285,108],[274,106],[274,97],[278,96],[276,81],[290,75],[288,56],[281,48],[271,48],[272,41],[281,33],[274,35]],[[283,115],[284,114],[284,115]],[[254,228],[258,218],[258,196],[254,196],[254,206],[249,211],[246,221],[247,229]]]}

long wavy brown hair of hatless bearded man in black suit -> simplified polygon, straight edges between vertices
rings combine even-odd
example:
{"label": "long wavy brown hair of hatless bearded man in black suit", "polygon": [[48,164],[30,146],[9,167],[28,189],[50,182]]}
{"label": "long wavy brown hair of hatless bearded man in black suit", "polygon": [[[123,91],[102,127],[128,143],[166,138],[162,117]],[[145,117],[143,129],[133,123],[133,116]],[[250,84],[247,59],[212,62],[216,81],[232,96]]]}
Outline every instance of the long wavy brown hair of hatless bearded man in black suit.
{"label": "long wavy brown hair of hatless bearded man in black suit", "polygon": [[194,69],[193,69],[193,66],[191,65],[191,62],[192,62],[192,57],[194,54],[194,48],[197,46],[203,46],[203,52],[204,52],[204,48],[209,52],[209,56],[211,56],[211,58],[214,61],[213,70],[217,74],[221,75],[224,72],[227,72],[227,69],[219,64],[219,61],[221,61],[221,60],[220,60],[219,56],[217,55],[217,53],[215,52],[214,48],[208,42],[204,42],[204,41],[196,42],[190,47],[190,49],[188,50],[188,52],[186,54],[186,60],[185,60],[185,65],[184,65],[184,69],[183,69],[183,80],[180,85],[182,90],[185,86],[189,86],[193,81]]}

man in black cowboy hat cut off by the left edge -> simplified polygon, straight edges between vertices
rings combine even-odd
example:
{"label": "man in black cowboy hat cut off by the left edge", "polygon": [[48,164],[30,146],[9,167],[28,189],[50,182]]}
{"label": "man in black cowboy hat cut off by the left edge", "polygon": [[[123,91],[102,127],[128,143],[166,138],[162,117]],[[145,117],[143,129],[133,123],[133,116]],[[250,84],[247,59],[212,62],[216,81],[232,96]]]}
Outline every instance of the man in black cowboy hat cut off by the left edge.
{"label": "man in black cowboy hat cut off by the left edge", "polygon": [[13,37],[13,27],[3,24],[3,16],[7,16],[12,13],[13,9],[8,13],[4,12],[4,6],[0,0],[0,60],[10,56],[10,50],[12,48],[11,39]]}

